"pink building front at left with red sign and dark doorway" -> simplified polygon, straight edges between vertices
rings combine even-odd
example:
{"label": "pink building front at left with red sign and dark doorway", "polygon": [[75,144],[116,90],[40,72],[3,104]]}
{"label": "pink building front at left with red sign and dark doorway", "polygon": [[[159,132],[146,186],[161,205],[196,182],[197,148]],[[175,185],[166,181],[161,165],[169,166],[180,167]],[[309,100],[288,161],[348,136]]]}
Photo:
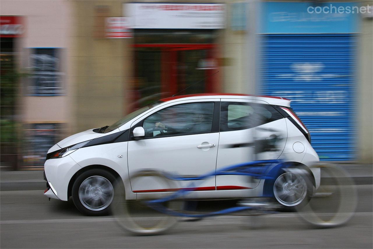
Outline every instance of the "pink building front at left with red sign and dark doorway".
{"label": "pink building front at left with red sign and dark doorway", "polygon": [[70,11],[68,1],[1,1],[2,166],[41,167],[70,134]]}

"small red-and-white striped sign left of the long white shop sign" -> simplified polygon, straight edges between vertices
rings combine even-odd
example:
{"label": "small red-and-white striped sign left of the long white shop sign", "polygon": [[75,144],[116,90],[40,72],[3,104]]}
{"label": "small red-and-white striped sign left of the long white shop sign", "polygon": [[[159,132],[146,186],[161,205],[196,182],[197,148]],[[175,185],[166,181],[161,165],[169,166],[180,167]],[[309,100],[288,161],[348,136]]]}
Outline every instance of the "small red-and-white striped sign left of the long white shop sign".
{"label": "small red-and-white striped sign left of the long white shop sign", "polygon": [[132,29],[126,17],[106,18],[106,38],[132,38]]}

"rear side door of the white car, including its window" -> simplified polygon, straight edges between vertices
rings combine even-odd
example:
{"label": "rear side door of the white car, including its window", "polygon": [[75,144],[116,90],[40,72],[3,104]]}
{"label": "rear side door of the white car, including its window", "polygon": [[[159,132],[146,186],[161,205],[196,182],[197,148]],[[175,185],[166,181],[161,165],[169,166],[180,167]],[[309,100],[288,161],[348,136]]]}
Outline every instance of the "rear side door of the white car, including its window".
{"label": "rear side door of the white car, including its window", "polygon": [[[282,137],[276,150],[262,146],[273,136]],[[285,147],[286,121],[266,102],[222,99],[217,170],[229,165],[263,159],[277,159]],[[267,138],[267,139],[266,139]],[[216,190],[254,189],[259,180],[239,175],[219,175]]]}

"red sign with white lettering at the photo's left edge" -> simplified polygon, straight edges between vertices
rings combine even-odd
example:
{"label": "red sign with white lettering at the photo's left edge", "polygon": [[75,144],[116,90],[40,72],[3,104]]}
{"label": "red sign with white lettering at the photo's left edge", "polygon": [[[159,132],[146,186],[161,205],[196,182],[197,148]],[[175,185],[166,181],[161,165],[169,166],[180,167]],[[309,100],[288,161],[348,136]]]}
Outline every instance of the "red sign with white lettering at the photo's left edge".
{"label": "red sign with white lettering at the photo's left edge", "polygon": [[24,32],[22,16],[0,16],[0,37],[21,37]]}

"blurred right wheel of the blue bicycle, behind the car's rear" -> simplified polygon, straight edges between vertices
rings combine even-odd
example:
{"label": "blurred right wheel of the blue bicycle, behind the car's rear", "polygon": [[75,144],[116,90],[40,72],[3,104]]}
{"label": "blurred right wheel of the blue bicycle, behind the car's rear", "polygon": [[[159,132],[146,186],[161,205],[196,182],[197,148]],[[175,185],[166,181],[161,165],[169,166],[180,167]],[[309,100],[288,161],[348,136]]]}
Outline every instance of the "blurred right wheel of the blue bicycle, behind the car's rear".
{"label": "blurred right wheel of the blue bicycle, behind the car's rear", "polygon": [[345,224],[357,205],[354,181],[346,171],[334,165],[319,164],[311,169],[320,171],[320,186],[307,205],[297,210],[300,217],[317,227]]}

